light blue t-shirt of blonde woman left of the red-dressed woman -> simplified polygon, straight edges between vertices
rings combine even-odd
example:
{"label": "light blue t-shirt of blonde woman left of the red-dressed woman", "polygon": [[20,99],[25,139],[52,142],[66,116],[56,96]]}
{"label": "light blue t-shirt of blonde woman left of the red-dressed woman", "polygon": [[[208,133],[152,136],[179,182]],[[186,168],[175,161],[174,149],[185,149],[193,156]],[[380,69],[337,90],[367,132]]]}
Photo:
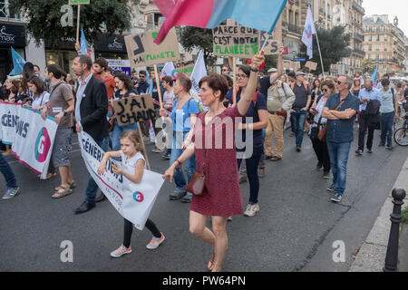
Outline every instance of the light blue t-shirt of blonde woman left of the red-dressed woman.
{"label": "light blue t-shirt of blonde woman left of the red-dressed woman", "polygon": [[174,132],[189,132],[191,129],[191,114],[199,114],[199,105],[197,102],[190,98],[189,101],[185,102],[180,110],[177,110],[179,106],[178,100],[174,106],[173,111],[171,111],[170,117],[173,121],[173,131]]}

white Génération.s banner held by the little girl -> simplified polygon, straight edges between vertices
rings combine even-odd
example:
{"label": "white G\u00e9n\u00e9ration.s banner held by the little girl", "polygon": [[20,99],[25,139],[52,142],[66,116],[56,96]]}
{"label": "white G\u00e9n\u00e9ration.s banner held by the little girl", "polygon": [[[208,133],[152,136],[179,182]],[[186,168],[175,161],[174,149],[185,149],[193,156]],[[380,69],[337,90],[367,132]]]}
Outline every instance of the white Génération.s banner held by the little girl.
{"label": "white G\u00e9n\u00e9ration.s banner held by the little girl", "polygon": [[136,184],[122,175],[113,174],[112,164],[118,168],[121,168],[121,164],[116,160],[108,160],[106,164],[108,171],[99,176],[97,172],[105,152],[86,132],[82,131],[79,134],[79,143],[83,160],[92,179],[111,201],[113,208],[116,208],[123,218],[131,221],[136,228],[142,230],[164,182],[161,175],[145,169],[141,182]]}

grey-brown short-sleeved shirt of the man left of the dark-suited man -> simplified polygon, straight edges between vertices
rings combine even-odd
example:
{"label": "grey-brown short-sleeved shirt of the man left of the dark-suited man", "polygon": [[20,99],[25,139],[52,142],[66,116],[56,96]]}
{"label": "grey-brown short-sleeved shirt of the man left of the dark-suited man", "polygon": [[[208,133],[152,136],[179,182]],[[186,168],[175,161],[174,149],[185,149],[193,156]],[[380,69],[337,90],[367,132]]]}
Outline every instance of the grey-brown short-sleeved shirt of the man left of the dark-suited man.
{"label": "grey-brown short-sleeved shirt of the man left of the dark-suited man", "polygon": [[[58,82],[50,91],[50,107],[48,107],[48,114],[54,117],[57,113],[68,109],[68,101],[73,100],[73,89],[66,82]],[[67,113],[61,118],[58,128],[73,127],[73,113]]]}

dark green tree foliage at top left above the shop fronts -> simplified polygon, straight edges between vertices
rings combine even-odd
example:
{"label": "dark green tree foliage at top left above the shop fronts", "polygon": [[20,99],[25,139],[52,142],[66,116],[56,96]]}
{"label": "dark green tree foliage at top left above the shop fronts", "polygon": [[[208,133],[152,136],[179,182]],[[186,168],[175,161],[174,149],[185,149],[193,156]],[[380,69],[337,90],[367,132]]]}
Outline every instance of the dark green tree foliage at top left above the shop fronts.
{"label": "dark green tree foliage at top left above the shop fronts", "polygon": [[[138,1],[132,0],[134,4]],[[22,11],[28,18],[25,33],[34,37],[35,43],[42,40],[57,47],[62,37],[76,36],[77,13],[73,5],[73,27],[61,25],[61,7],[68,0],[13,0],[12,9]],[[128,0],[92,0],[90,5],[81,5],[80,25],[89,43],[94,43],[102,26],[107,34],[122,33],[131,27],[131,7]]]}

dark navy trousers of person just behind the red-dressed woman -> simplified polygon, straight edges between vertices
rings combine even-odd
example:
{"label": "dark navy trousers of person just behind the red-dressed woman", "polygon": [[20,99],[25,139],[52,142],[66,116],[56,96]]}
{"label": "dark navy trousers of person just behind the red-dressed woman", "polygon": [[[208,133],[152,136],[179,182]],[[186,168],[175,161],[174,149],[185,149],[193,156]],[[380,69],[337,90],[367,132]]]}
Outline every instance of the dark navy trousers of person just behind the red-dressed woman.
{"label": "dark navy trousers of person just behind the red-dressed woman", "polygon": [[[259,166],[259,160],[264,152],[264,145],[254,145],[254,151],[252,156],[245,160],[247,165],[247,176],[249,180],[249,202],[257,204],[257,197],[259,195],[259,176],[257,174],[257,168]],[[238,160],[238,169],[242,160]]]}

